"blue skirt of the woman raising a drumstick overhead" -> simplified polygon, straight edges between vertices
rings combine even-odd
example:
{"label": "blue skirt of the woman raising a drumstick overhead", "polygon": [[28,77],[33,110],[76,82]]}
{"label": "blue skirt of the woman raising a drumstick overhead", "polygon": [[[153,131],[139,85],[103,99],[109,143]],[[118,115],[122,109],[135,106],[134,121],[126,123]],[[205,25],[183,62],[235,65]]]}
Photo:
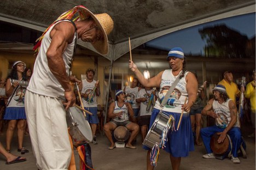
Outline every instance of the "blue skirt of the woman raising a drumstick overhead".
{"label": "blue skirt of the woman raising a drumstick overhead", "polygon": [[[150,119],[150,127],[154,124],[155,118],[158,116],[160,110],[154,108]],[[194,151],[193,132],[191,129],[191,122],[189,114],[183,114],[179,130],[177,126],[181,113],[164,112],[168,115],[172,115],[175,120],[174,130],[167,134],[168,141],[165,144],[164,150],[170,153],[174,157],[186,157],[189,155],[189,151]],[[143,145],[143,148],[149,150],[150,148]]]}

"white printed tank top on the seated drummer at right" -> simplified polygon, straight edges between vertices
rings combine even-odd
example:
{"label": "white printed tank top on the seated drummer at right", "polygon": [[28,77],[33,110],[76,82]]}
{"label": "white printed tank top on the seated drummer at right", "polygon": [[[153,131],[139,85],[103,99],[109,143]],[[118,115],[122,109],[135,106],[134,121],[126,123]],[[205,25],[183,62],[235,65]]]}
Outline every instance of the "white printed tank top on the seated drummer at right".
{"label": "white printed tank top on the seated drummer at right", "polygon": [[[229,125],[231,120],[231,114],[229,110],[229,101],[232,99],[228,99],[226,102],[219,104],[217,100],[213,101],[212,108],[214,113],[218,115],[216,118],[216,126],[225,128]],[[238,127],[237,122],[234,124],[233,127]]]}

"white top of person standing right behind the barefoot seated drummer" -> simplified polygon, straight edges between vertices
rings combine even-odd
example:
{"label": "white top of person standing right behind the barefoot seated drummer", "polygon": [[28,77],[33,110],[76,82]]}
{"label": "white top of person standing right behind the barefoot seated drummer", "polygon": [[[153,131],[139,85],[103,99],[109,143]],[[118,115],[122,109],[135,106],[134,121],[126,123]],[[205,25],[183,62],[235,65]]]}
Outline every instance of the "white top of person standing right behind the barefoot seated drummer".
{"label": "white top of person standing right behind the barefoot seated drummer", "polygon": [[136,97],[138,94],[138,87],[130,88],[130,86],[125,87],[125,100],[132,105],[132,108],[139,108],[138,103],[136,102]]}

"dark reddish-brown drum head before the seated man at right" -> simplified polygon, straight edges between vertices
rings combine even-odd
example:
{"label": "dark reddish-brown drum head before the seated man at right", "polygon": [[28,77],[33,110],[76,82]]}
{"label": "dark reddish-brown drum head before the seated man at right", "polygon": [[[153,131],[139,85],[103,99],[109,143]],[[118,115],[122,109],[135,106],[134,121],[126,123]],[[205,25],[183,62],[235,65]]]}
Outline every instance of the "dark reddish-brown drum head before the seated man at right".
{"label": "dark reddish-brown drum head before the seated man at right", "polygon": [[224,154],[226,152],[226,150],[228,150],[229,148],[229,138],[226,136],[226,138],[224,139],[224,141],[222,143],[218,143],[218,139],[219,136],[217,133],[215,133],[212,137],[211,137],[211,149],[213,151],[214,154]]}

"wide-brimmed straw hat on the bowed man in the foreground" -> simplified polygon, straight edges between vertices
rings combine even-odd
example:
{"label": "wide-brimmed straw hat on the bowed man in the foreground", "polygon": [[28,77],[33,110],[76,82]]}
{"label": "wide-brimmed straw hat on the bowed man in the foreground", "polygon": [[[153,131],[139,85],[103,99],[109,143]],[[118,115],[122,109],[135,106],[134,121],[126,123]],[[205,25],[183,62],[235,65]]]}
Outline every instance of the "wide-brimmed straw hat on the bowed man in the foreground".
{"label": "wide-brimmed straw hat on the bowed man in the foreground", "polygon": [[94,19],[97,26],[101,29],[104,37],[102,40],[95,41],[95,43],[91,43],[94,48],[100,52],[101,54],[107,54],[108,53],[108,34],[112,31],[114,28],[114,22],[112,18],[106,14],[93,14],[89,9],[85,8],[83,5],[79,5],[77,7],[79,12],[79,18],[80,20],[88,19],[89,16]]}

